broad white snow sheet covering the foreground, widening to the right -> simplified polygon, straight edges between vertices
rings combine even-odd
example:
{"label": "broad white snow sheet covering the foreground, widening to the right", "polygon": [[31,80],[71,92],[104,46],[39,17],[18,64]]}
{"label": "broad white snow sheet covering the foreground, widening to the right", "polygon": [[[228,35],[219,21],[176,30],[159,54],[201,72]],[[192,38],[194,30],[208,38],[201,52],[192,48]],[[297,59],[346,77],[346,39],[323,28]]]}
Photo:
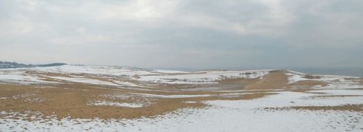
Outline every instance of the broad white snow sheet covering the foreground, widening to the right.
{"label": "broad white snow sheet covering the foreground, widening to the right", "polygon": [[[21,120],[26,119],[27,115],[16,120],[12,118],[16,113],[1,112],[8,116],[0,119],[0,131],[362,131],[363,129],[361,111],[264,109],[264,107],[361,104],[363,98],[359,96],[305,101],[309,96],[324,94],[278,93],[253,100],[205,101],[211,106],[178,109],[155,118],[55,120],[55,116],[51,116],[53,117],[51,120],[43,120],[40,118],[42,115],[39,115],[32,117],[38,120],[29,122]],[[336,102],[339,100],[341,101]]]}

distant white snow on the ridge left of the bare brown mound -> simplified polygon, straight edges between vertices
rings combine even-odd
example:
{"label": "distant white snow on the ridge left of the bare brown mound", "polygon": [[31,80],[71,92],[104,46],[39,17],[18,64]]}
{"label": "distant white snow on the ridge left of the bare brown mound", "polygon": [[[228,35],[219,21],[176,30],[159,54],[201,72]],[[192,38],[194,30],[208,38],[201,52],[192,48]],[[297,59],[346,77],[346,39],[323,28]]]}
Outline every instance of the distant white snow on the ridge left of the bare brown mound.
{"label": "distant white snow on the ridge left of the bare brown mound", "polygon": [[[92,74],[92,75],[109,75],[116,77],[128,77],[131,79],[136,79],[137,81],[151,81],[151,82],[160,82],[160,83],[216,83],[216,80],[225,78],[255,78],[255,77],[263,77],[268,74],[270,70],[241,70],[241,71],[233,71],[233,70],[203,70],[199,72],[184,72],[177,70],[144,70],[138,68],[126,68],[126,67],[118,67],[118,66],[51,66],[51,67],[34,67],[34,68],[19,68],[19,69],[8,69],[8,70],[0,70],[0,71],[8,71],[8,72],[19,72],[16,74],[16,78],[18,80],[24,79],[33,79],[33,81],[40,82],[36,80],[36,77],[27,77],[21,75],[21,73],[25,73],[25,71],[35,71],[35,72],[55,72],[55,73],[75,73],[75,74]],[[250,72],[255,74],[246,75],[245,73]],[[11,75],[15,75],[12,73]],[[135,77],[138,75],[140,78]],[[69,75],[75,78],[83,78],[82,76]],[[5,75],[0,75],[0,79],[6,79],[9,77],[5,77]],[[24,78],[25,77],[25,78]],[[65,78],[64,78],[65,79]],[[171,79],[176,79],[171,81]],[[70,80],[70,79],[67,79]],[[79,81],[81,79],[77,79]],[[111,83],[108,83],[111,84]],[[134,85],[135,86],[135,85]]]}

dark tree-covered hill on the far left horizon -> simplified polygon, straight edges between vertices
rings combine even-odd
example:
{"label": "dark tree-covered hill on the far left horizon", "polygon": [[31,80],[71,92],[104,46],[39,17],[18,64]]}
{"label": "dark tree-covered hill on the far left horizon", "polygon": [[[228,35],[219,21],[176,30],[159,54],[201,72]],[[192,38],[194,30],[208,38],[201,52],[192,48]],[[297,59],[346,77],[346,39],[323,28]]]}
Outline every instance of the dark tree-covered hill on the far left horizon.
{"label": "dark tree-covered hill on the far left horizon", "polygon": [[1,62],[0,68],[29,68],[29,67],[48,67],[48,66],[63,66],[65,63],[52,63],[52,64],[19,64],[18,62]]}

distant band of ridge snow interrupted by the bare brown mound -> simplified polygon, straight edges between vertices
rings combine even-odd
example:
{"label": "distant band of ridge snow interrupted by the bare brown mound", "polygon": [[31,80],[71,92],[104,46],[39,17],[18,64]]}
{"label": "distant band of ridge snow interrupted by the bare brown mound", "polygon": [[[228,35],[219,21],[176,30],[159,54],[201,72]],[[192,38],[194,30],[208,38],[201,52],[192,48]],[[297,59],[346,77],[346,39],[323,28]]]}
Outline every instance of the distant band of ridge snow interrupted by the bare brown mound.
{"label": "distant band of ridge snow interrupted by the bare brown mound", "polygon": [[[272,69],[271,69],[272,70]],[[177,70],[144,70],[138,68],[127,68],[118,66],[51,66],[51,67],[34,67],[34,68],[12,68],[12,69],[1,69],[0,80],[4,81],[27,81],[27,82],[38,82],[38,83],[56,83],[51,81],[42,81],[42,77],[32,77],[25,74],[25,71],[35,72],[55,72],[68,75],[73,74],[91,74],[100,77],[126,77],[128,79],[134,79],[136,81],[147,81],[154,83],[186,83],[186,84],[205,84],[205,83],[217,83],[221,79],[234,79],[234,78],[257,78],[263,79],[264,75],[267,75],[271,70],[202,70],[198,72],[184,72]],[[246,74],[249,72],[250,74]],[[251,74],[252,73],[252,74]],[[254,74],[253,74],[254,73]],[[136,77],[135,75],[138,75]],[[352,78],[341,75],[316,75],[320,76],[321,79],[305,79],[305,74],[301,72],[295,72],[292,70],[286,70],[288,75],[289,83],[303,80],[316,80],[316,81],[333,81],[338,79],[342,83],[352,83],[351,80],[345,80],[345,78]],[[68,75],[75,78],[84,78],[81,75]],[[357,78],[357,77],[353,77]],[[65,78],[64,78],[65,79]],[[71,80],[71,79],[66,79]],[[74,81],[86,80],[77,79]],[[90,80],[87,82],[89,83]],[[134,83],[113,81],[114,83],[103,83],[104,85],[125,85],[132,87],[140,87]],[[98,83],[97,83],[98,84]]]}

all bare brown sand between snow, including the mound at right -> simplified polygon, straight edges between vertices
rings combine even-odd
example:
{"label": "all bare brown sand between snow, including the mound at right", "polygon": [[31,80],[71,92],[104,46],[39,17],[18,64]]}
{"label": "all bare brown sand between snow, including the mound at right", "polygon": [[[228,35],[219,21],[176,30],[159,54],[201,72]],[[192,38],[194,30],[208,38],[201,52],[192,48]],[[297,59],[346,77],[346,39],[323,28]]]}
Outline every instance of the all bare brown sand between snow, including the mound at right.
{"label": "all bare brown sand between snow, including the mound at right", "polygon": [[[210,100],[241,100],[261,98],[273,89],[289,90],[293,92],[306,92],[314,85],[326,85],[323,81],[297,81],[288,84],[288,78],[284,73],[285,70],[273,70],[263,79],[223,79],[218,81],[221,84],[248,84],[228,86],[223,90],[247,90],[236,91],[240,95],[227,96],[223,94],[231,92],[223,91],[183,91],[180,89],[188,88],[208,88],[215,87],[218,84],[196,85],[196,84],[168,84],[168,83],[151,83],[134,81],[129,77],[99,77],[90,74],[63,74],[51,72],[27,72],[25,75],[44,77],[46,81],[55,81],[55,84],[34,84],[34,85],[16,85],[1,84],[0,82],[0,111],[13,111],[25,114],[25,111],[40,111],[45,116],[56,115],[58,119],[62,118],[153,118],[160,114],[175,111],[186,107],[207,107],[203,101]],[[203,73],[203,72],[201,72]],[[178,73],[166,75],[186,75],[201,73]],[[253,73],[246,73],[253,74]],[[144,90],[134,89],[132,87],[118,87],[110,85],[92,85],[88,83],[77,83],[52,79],[54,77],[72,77],[83,76],[88,79],[97,79],[100,81],[128,81],[138,85],[149,86]],[[138,77],[138,75],[136,75]],[[307,76],[310,77],[310,76]],[[313,77],[314,78],[314,77]],[[363,79],[353,79],[363,84]],[[170,81],[175,81],[171,79]],[[149,89],[149,91],[147,91]],[[251,90],[251,91],[248,91]],[[244,93],[244,94],[242,94]],[[316,93],[316,92],[314,92]],[[158,94],[158,95],[175,95],[175,94],[208,94],[206,97],[194,98],[158,98],[151,96],[142,96],[140,94]],[[128,96],[125,98],[116,96]],[[319,98],[319,96],[316,96]],[[107,101],[112,103],[141,103],[144,107],[119,107],[119,106],[96,106],[92,103],[97,101]],[[186,103],[186,101],[195,101],[195,103]],[[362,109],[356,108],[361,105],[349,105],[341,107],[288,107],[288,108],[268,108],[268,109]],[[353,108],[354,107],[354,108]],[[30,114],[29,116],[32,116]],[[43,116],[42,118],[46,118]],[[1,117],[1,116],[0,116]],[[30,120],[30,119],[29,119]]]}

